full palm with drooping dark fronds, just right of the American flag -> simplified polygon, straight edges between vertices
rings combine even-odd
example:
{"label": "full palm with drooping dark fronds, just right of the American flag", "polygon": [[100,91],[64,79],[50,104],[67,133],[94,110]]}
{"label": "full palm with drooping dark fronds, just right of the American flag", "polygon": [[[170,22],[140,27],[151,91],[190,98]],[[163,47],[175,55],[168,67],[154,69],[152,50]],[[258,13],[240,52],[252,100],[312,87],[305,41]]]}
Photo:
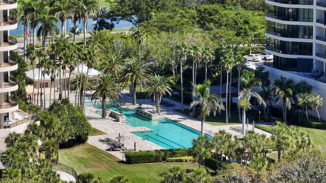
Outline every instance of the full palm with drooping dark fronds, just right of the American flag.
{"label": "full palm with drooping dark fronds, just right of the American flag", "polygon": [[53,36],[55,33],[60,32],[57,27],[58,18],[42,14],[38,19],[35,19],[34,22],[35,21],[41,23],[41,26],[37,30],[37,38],[40,40],[42,37],[42,47],[45,47],[47,35]]}

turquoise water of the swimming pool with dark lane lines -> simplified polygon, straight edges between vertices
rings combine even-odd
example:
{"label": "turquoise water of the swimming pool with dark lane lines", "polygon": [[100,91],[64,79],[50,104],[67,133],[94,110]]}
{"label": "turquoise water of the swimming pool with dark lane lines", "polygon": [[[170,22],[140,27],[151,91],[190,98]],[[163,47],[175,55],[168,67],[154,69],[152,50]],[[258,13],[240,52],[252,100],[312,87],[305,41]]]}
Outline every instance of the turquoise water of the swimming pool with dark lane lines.
{"label": "turquoise water of the swimming pool with dark lane lines", "polygon": [[[94,103],[86,103],[85,106],[93,106],[101,110],[100,103],[96,103],[95,105]],[[107,104],[106,108],[110,108],[111,110],[117,112],[122,111],[122,114],[124,114],[127,118],[127,125],[129,126],[147,127],[151,129],[152,132],[138,132],[133,134],[144,139],[148,139],[149,141],[167,149],[191,148],[193,147],[193,139],[198,138],[200,135],[200,132],[180,125],[170,119],[151,121],[135,114],[134,110],[132,109],[117,108],[110,106],[110,104]],[[208,136],[208,138],[210,137]]]}

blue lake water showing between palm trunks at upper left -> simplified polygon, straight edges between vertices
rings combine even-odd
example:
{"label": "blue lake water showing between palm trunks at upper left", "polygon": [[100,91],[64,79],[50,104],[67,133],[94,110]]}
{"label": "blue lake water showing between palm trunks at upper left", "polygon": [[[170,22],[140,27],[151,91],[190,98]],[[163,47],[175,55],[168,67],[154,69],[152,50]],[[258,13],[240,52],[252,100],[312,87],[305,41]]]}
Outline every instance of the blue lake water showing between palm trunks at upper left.
{"label": "blue lake water showing between palm trunks at upper left", "polygon": [[[89,18],[86,31],[91,31],[94,28],[93,23],[94,23],[94,20],[92,18]],[[41,24],[39,24],[39,26],[40,25]],[[69,32],[69,27],[71,25],[73,25],[73,22],[71,21],[71,19],[66,20],[66,32]],[[76,25],[78,25],[83,31],[83,29],[84,29],[83,20],[80,21],[80,23],[77,22]],[[122,20],[119,23],[116,23],[114,28],[131,28],[132,26],[133,26],[132,23]],[[61,21],[58,22],[58,27],[61,32]],[[36,28],[36,31],[37,31],[37,29],[38,28]],[[10,35],[21,35],[21,33],[22,33],[21,31],[22,31],[22,24],[18,24],[17,29],[10,30]],[[31,34],[33,34],[33,30],[30,29],[30,31],[31,31]]]}

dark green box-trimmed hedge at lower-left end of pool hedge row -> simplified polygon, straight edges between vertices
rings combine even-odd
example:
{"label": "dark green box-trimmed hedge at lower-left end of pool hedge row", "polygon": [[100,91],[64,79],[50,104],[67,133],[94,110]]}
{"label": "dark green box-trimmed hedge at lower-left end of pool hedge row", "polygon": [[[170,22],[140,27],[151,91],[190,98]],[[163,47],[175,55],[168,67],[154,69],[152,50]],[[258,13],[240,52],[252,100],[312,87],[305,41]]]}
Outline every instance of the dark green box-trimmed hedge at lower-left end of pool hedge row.
{"label": "dark green box-trimmed hedge at lower-left end of pool hedge row", "polygon": [[153,151],[139,151],[135,153],[126,153],[126,162],[129,164],[155,163],[161,162],[162,157],[159,153]]}

